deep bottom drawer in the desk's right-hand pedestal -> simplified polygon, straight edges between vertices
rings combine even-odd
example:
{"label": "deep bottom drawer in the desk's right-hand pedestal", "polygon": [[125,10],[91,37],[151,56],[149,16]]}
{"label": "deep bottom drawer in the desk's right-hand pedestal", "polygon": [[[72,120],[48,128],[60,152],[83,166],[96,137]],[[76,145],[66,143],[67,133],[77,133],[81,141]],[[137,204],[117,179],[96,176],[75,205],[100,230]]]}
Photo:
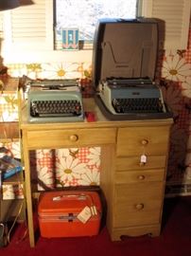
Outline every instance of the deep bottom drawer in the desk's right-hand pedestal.
{"label": "deep bottom drawer in the desk's right-hand pedestal", "polygon": [[163,182],[117,185],[114,196],[113,227],[160,223]]}

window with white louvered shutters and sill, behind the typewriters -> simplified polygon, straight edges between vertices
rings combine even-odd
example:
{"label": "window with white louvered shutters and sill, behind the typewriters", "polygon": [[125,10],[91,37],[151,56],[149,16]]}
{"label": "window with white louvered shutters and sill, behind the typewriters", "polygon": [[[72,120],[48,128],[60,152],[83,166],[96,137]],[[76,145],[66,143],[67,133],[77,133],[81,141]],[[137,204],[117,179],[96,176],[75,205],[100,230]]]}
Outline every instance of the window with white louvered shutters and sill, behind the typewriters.
{"label": "window with white louvered shutters and sill, behind the typewriters", "polygon": [[[3,28],[0,42],[1,56],[4,58],[5,64],[11,63],[54,63],[54,62],[92,62],[92,50],[76,50],[76,51],[62,51],[54,50],[54,33],[55,24],[53,17],[54,4],[56,0],[33,0],[34,5],[20,7],[0,12],[0,29]],[[82,26],[80,22],[86,21],[86,24],[91,25],[86,27],[81,33],[80,38],[91,39],[93,36],[93,27],[95,25],[96,15],[104,13],[104,7],[111,7],[116,9],[114,5],[122,5],[122,0],[57,0],[57,4],[69,6],[69,4],[79,4],[76,12],[81,13],[78,18],[78,28]],[[105,2],[105,6],[100,7],[100,3]],[[124,4],[130,3],[131,0],[123,0]],[[87,3],[87,4],[86,4]],[[99,3],[97,14],[96,3]],[[109,3],[109,4],[108,4]],[[112,8],[113,3],[113,8]],[[84,8],[85,4],[87,8]],[[135,4],[133,4],[135,7]],[[138,13],[139,16],[159,18],[165,21],[165,47],[183,49],[186,48],[189,19],[190,19],[190,0],[139,0]],[[91,7],[91,8],[90,8]],[[58,7],[59,9],[59,7]],[[74,8],[73,8],[74,10]],[[124,6],[117,8],[117,11],[123,11]],[[92,16],[93,21],[89,21]],[[76,13],[75,12],[75,13]],[[87,12],[84,14],[84,12]],[[107,12],[107,11],[105,11]],[[72,12],[70,12],[72,13]],[[123,12],[125,13],[125,11]],[[111,12],[109,12],[111,14]],[[125,13],[126,14],[126,13]],[[74,16],[73,16],[74,17]],[[61,24],[61,13],[58,11],[58,27],[64,24],[67,26],[76,26],[69,20],[64,19],[64,24]],[[1,21],[3,25],[1,24]],[[74,20],[73,20],[74,21]],[[83,25],[84,26],[84,25]]]}

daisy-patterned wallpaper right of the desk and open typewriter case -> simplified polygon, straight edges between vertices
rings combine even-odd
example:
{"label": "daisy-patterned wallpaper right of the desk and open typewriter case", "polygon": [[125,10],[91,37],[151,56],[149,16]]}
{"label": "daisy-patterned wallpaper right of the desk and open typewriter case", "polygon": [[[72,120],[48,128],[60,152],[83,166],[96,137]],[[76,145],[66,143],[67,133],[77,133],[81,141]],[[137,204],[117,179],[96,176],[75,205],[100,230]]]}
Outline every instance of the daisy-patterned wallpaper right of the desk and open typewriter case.
{"label": "daisy-patterned wallpaper right of the desk and open typewriter case", "polygon": [[[173,112],[167,192],[191,192],[191,27],[186,50],[166,50],[158,65],[164,98]],[[170,186],[173,184],[174,186]],[[177,185],[177,186],[175,186]]]}

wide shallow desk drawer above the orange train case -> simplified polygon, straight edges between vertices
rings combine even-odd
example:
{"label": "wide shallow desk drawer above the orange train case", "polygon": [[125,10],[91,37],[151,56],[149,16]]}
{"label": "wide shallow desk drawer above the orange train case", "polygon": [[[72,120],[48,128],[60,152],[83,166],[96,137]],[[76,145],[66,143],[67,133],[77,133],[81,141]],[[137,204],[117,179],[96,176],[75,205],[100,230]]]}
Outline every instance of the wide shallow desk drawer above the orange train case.
{"label": "wide shallow desk drawer above the orange train case", "polygon": [[33,148],[81,147],[115,143],[115,129],[70,129],[27,132],[27,143]]}

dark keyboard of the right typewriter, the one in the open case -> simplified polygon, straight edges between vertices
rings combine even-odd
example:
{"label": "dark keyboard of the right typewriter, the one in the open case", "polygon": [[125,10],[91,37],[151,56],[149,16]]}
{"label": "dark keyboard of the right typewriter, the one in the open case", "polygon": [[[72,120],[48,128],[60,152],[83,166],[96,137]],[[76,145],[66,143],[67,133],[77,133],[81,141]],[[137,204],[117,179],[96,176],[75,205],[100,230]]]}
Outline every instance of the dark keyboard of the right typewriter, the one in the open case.
{"label": "dark keyboard of the right typewriter, the one in the open case", "polygon": [[113,108],[116,113],[159,113],[163,112],[163,104],[153,99],[114,99]]}

